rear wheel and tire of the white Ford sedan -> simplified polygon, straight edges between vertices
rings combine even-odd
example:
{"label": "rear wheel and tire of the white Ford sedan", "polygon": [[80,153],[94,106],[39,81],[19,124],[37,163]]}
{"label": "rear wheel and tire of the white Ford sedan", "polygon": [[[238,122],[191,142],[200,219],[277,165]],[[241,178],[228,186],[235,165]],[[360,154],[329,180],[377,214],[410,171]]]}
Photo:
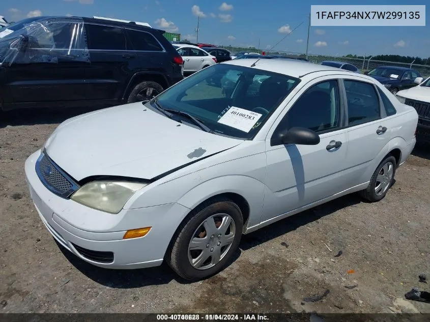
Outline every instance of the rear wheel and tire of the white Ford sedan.
{"label": "rear wheel and tire of the white Ford sedan", "polygon": [[[368,187],[360,191],[361,196],[365,200],[370,202],[377,202],[382,200],[387,194],[388,190],[391,188],[395,172],[396,159],[392,155],[388,155],[375,170],[374,174],[372,175],[372,178],[370,179]],[[378,178],[379,175],[382,175],[383,177]]]}

